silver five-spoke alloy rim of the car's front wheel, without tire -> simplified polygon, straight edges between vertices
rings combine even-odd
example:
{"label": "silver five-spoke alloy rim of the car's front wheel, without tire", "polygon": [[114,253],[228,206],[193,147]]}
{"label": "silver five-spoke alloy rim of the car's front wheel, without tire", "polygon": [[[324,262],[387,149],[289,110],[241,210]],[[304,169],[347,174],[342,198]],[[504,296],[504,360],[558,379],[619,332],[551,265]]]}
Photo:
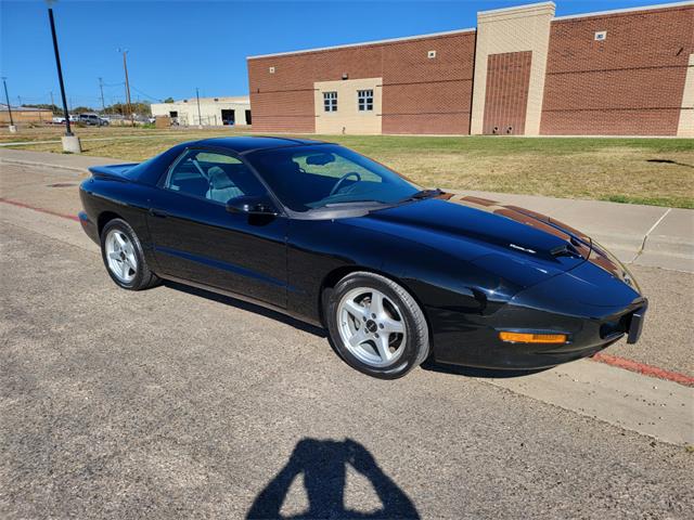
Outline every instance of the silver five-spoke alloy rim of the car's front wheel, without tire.
{"label": "silver five-spoke alloy rim of the car's front wheel, without tire", "polygon": [[357,287],[348,291],[337,306],[337,326],[345,347],[369,366],[390,365],[404,351],[402,313],[377,289]]}

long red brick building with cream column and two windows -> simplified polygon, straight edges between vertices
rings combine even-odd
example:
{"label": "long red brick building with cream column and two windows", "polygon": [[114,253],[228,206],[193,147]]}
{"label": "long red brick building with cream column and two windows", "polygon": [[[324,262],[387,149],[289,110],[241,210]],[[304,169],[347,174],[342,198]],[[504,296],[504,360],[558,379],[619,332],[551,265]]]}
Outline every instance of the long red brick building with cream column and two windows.
{"label": "long red brick building with cream column and two windows", "polygon": [[250,56],[261,132],[694,136],[694,2]]}

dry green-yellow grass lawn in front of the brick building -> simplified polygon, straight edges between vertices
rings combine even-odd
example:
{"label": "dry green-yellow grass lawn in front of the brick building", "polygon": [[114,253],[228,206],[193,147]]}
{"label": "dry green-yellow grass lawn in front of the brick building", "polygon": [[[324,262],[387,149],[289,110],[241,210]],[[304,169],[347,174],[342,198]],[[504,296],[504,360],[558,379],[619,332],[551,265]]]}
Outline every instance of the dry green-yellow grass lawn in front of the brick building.
{"label": "dry green-yellow grass lawn in front of the brick building", "polygon": [[[85,154],[125,160],[145,159],[182,141],[233,133],[220,129],[133,131],[123,128],[79,129],[78,132],[81,132]],[[114,139],[90,141],[107,135]],[[134,139],[140,135],[150,139]],[[60,136],[60,129],[55,136]],[[17,138],[12,136],[15,141]],[[692,139],[311,138],[349,146],[426,186],[694,208]],[[39,139],[47,136],[42,134]],[[21,148],[61,150],[60,144]]]}

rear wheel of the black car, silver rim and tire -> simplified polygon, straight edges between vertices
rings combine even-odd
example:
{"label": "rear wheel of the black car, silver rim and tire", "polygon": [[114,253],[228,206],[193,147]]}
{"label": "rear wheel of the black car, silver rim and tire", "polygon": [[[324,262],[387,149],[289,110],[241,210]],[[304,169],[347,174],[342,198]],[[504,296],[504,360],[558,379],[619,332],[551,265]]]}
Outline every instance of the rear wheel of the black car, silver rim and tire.
{"label": "rear wheel of the black car, silver rim and tire", "polygon": [[159,283],[150,271],[138,235],[125,220],[114,219],[104,225],[101,256],[111,278],[124,289],[142,290]]}

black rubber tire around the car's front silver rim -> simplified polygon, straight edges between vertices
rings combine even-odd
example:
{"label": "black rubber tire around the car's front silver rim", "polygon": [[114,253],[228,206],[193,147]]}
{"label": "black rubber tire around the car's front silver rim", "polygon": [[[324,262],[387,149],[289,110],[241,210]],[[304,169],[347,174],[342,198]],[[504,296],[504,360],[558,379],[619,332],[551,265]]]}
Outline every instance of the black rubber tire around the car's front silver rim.
{"label": "black rubber tire around the car's front silver rim", "polygon": [[[407,336],[398,349],[402,353],[385,366],[372,366],[357,358],[345,344],[338,328],[339,302],[357,288],[376,289],[395,303],[400,311]],[[391,280],[370,272],[348,274],[333,290],[325,292],[323,312],[331,343],[343,360],[359,372],[381,379],[397,379],[420,366],[429,354],[429,332],[422,309],[404,288]],[[377,335],[376,335],[377,337]]]}

